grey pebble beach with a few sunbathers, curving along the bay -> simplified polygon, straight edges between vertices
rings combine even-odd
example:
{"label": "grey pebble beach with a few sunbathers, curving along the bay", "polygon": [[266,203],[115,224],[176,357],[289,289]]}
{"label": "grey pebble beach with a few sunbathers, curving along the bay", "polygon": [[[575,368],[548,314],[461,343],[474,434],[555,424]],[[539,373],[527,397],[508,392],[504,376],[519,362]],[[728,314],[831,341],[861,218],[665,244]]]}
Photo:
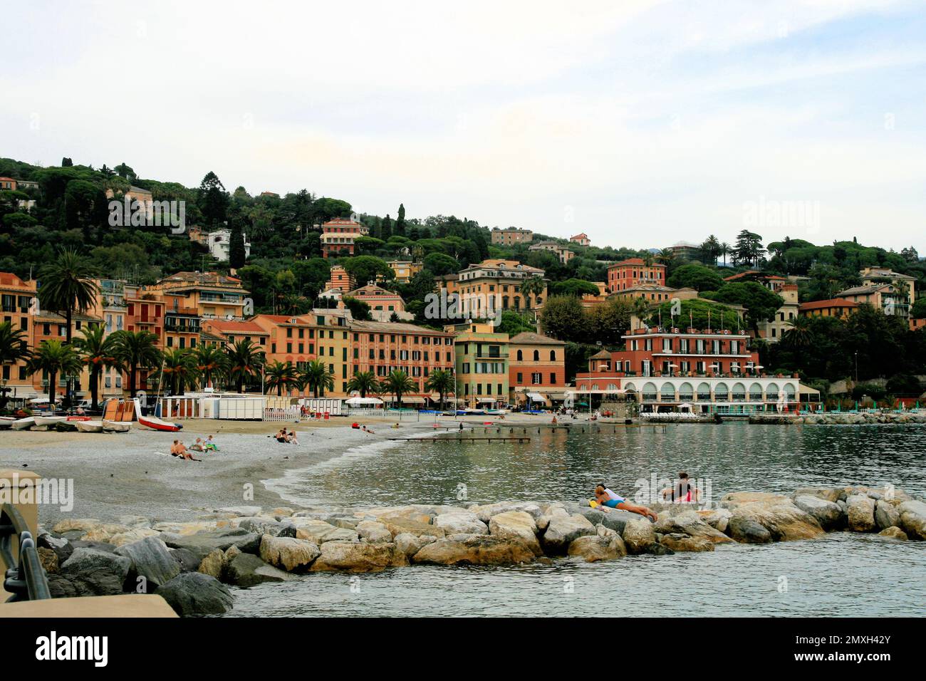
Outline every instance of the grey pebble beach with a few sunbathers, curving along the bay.
{"label": "grey pebble beach with a few sunbathers, curving along the bay", "polygon": [[[286,506],[262,481],[360,445],[432,429],[423,421],[407,421],[398,429],[391,427],[394,421],[367,418],[362,423],[374,432],[351,428],[347,419],[299,424],[189,420],[180,433],[148,430],[137,423],[127,434],[3,431],[0,468],[73,480],[71,511],[42,506],[39,520],[47,527],[68,517],[117,521],[120,516],[144,515],[179,521],[204,508]],[[295,429],[298,445],[278,443],[270,436],[283,426]],[[189,448],[196,437],[205,440],[208,435],[214,436],[219,452],[193,452],[202,461],[169,456],[174,439]]]}

